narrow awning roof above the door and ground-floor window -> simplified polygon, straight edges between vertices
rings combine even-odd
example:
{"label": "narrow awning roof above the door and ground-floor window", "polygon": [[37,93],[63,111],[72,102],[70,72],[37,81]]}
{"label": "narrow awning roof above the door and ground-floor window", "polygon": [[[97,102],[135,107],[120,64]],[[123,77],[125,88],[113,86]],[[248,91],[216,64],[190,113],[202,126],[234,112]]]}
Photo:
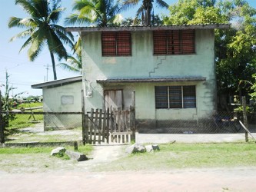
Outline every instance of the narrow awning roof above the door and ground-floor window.
{"label": "narrow awning roof above the door and ground-floor window", "polygon": [[110,78],[97,80],[99,84],[108,83],[160,83],[160,82],[182,82],[182,81],[206,81],[206,78],[200,76],[190,77],[165,77],[165,78]]}

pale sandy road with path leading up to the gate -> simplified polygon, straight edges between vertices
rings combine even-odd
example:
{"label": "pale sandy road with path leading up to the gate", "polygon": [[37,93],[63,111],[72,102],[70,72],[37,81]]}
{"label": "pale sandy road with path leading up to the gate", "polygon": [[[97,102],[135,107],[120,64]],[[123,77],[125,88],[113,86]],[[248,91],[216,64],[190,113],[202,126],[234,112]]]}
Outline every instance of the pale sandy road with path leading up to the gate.
{"label": "pale sandy road with path leading up to the gate", "polygon": [[[91,172],[125,155],[125,146],[95,146],[89,161],[34,174],[0,171],[0,191],[256,191],[256,167]],[[1,170],[1,168],[0,168]]]}

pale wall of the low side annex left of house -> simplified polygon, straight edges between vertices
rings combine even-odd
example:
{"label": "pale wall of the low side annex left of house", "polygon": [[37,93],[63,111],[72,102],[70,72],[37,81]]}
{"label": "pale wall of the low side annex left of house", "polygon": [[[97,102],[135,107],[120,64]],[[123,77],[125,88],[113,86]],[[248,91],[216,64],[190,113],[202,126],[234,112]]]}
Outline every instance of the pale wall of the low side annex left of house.
{"label": "pale wall of the low side annex left of house", "polygon": [[[81,111],[81,82],[55,88],[43,88],[45,112]],[[80,114],[49,114],[44,116],[45,131],[81,127]]]}

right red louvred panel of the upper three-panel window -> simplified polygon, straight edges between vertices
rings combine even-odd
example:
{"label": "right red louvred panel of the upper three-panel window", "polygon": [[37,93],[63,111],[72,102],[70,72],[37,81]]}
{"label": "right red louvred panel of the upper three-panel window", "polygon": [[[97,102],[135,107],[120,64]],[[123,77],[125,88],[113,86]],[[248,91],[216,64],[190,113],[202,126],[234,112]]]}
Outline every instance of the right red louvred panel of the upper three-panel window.
{"label": "right red louvred panel of the upper three-panel window", "polygon": [[181,52],[182,54],[194,53],[194,30],[181,31]]}

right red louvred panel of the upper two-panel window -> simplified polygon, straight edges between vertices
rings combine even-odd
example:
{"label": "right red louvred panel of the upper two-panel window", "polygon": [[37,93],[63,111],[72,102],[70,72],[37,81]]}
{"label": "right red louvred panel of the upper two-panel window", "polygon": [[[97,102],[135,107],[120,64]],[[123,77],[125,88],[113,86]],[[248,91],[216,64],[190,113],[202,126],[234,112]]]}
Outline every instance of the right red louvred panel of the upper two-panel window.
{"label": "right red louvred panel of the upper two-panel window", "polygon": [[117,55],[131,55],[131,33],[129,31],[117,32]]}

